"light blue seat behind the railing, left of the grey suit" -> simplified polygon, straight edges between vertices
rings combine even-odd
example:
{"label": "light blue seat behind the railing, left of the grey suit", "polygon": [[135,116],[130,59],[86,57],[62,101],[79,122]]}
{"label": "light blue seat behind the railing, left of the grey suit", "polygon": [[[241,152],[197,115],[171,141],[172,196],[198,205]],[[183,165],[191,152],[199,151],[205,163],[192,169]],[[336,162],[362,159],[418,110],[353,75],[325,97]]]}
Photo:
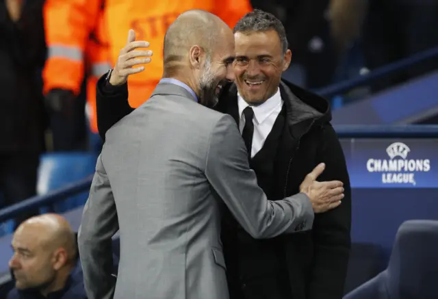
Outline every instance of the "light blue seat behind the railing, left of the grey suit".
{"label": "light blue seat behind the railing, left of the grey suit", "polygon": [[[94,172],[96,166],[96,153],[48,153],[41,156],[38,170],[38,195],[57,190],[69,183],[87,177]],[[55,213],[63,213],[80,205],[84,205],[88,192],[67,198],[53,205]],[[42,212],[47,208],[42,209]]]}

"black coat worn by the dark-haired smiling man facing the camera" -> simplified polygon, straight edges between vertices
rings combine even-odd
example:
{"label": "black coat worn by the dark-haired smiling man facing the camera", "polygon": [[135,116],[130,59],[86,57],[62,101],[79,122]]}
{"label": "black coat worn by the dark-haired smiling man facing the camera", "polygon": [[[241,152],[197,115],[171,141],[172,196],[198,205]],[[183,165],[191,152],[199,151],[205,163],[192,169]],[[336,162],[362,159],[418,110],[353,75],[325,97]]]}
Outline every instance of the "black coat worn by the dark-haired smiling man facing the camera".
{"label": "black coat worn by the dark-haired smiling man facing the camera", "polygon": [[[274,239],[252,239],[225,213],[222,242],[230,297],[340,299],[350,252],[351,192],[344,153],[330,124],[329,103],[287,81],[281,81],[277,96],[283,100],[281,112],[262,148],[250,158],[260,187],[270,200],[296,194],[305,175],[324,162],[326,170],[318,180],[342,181],[345,197],[336,209],[315,214],[312,231]],[[111,86],[101,77],[96,105],[103,140],[112,125],[133,111],[127,99],[126,84]],[[242,116],[233,83],[222,87],[215,109],[230,114],[239,125]]]}

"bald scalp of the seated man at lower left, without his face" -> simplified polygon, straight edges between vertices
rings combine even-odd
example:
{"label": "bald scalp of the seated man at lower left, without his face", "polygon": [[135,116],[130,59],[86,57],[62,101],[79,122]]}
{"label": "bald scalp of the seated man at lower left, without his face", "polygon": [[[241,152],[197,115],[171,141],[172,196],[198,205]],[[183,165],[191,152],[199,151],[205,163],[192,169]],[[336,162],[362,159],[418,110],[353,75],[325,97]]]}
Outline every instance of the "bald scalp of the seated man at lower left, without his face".
{"label": "bald scalp of the seated man at lower left, without his face", "polygon": [[18,226],[15,234],[26,232],[35,233],[36,242],[46,250],[64,248],[68,260],[75,259],[77,255],[75,233],[64,217],[48,213],[29,218]]}

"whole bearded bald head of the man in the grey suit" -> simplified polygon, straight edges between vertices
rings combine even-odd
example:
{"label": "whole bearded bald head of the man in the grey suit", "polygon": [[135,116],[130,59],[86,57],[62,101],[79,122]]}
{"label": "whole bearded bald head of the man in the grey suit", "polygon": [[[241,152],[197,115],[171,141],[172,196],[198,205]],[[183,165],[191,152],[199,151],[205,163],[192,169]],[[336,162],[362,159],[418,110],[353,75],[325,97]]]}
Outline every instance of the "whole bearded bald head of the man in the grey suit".
{"label": "whole bearded bald head of the man in the grey suit", "polygon": [[163,77],[185,83],[207,107],[218,102],[220,82],[233,81],[233,59],[233,31],[203,10],[181,14],[164,37]]}

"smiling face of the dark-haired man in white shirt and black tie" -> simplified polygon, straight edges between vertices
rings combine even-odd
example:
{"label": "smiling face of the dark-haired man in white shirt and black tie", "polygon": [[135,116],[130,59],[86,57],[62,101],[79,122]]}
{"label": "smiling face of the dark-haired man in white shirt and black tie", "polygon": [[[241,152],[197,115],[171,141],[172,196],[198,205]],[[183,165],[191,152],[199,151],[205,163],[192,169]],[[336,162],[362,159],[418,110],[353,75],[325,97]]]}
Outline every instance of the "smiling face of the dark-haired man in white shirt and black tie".
{"label": "smiling face of the dark-haired man in white shirt and black tie", "polygon": [[233,70],[240,95],[251,105],[260,105],[275,94],[281,74],[290,64],[290,50],[283,53],[279,34],[267,31],[237,31]]}

